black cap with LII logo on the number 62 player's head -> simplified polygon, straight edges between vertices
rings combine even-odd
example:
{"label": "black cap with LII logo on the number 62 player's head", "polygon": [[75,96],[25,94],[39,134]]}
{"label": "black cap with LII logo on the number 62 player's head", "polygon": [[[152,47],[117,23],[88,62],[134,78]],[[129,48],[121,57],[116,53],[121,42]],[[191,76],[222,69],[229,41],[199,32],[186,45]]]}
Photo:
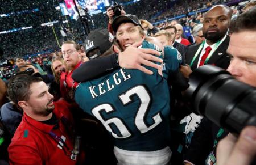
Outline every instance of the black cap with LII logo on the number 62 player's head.
{"label": "black cap with LII logo on the number 62 player's head", "polygon": [[104,54],[106,50],[108,50],[113,45],[113,43],[114,36],[107,29],[95,29],[86,37],[84,43],[86,56],[90,51],[99,49],[100,51],[93,56],[87,56],[89,59],[97,58],[101,54]]}

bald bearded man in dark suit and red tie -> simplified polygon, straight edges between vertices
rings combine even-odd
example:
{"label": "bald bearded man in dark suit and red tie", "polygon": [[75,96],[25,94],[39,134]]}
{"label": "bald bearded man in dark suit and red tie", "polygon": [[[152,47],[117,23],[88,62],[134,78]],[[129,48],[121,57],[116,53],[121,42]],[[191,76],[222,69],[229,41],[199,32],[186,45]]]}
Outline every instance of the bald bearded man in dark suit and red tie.
{"label": "bald bearded man in dark suit and red tie", "polygon": [[[187,51],[190,53],[196,52],[190,54],[192,58],[187,61],[192,66],[192,70],[205,64],[216,65],[224,69],[228,68],[230,58],[226,50],[229,46],[229,37],[226,36],[226,33],[228,32],[231,16],[232,10],[225,5],[213,6],[205,14],[203,23],[205,41],[198,46],[189,47]],[[208,54],[208,56],[204,57],[205,54]],[[193,122],[193,119],[191,119],[191,122]],[[216,146],[227,134],[225,130],[204,118],[199,127],[193,132],[191,143],[185,154],[184,164],[216,164]]]}

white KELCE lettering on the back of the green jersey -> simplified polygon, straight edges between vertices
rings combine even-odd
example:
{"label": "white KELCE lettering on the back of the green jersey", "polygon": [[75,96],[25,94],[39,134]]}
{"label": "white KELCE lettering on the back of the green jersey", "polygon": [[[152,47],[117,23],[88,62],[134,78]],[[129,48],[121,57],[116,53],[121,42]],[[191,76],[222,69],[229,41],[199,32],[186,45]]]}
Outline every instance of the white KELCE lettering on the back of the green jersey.
{"label": "white KELCE lettering on the back of the green jersey", "polygon": [[[118,74],[118,72],[120,71],[121,75]],[[123,71],[123,68],[121,68],[119,71],[117,71],[114,75],[113,75],[113,79],[114,79],[114,84],[110,84],[109,83],[109,79],[107,79],[105,82],[102,82],[100,84],[97,85],[98,87],[98,92],[96,92],[94,89],[96,86],[90,86],[89,90],[90,90],[90,94],[92,95],[92,98],[97,98],[99,95],[105,94],[106,91],[111,91],[113,90],[113,88],[115,88],[116,86],[118,86],[119,84],[121,84],[124,81],[127,81],[127,79],[131,78],[130,74],[126,75],[126,72]]]}

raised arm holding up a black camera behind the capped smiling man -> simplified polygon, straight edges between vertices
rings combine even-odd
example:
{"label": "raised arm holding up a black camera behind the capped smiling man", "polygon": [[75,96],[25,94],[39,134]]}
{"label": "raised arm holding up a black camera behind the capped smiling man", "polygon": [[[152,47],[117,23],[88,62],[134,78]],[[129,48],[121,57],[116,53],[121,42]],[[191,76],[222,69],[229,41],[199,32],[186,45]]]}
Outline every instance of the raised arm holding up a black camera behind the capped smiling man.
{"label": "raised arm holding up a black camera behind the capped smiling man", "polygon": [[[121,13],[115,13],[114,11],[121,11]],[[108,31],[113,34],[113,29],[112,29],[112,22],[115,16],[119,15],[125,15],[126,12],[123,10],[123,7],[121,5],[118,5],[118,3],[114,3],[114,6],[109,7],[107,9],[107,15],[109,18],[109,23],[108,23]]]}

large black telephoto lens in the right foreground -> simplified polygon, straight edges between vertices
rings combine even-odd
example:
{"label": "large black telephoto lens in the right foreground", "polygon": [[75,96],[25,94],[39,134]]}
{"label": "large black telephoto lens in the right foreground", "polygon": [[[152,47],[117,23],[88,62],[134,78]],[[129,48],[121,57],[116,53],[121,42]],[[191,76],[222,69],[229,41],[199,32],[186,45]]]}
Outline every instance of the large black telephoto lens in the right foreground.
{"label": "large black telephoto lens in the right foreground", "polygon": [[247,125],[256,126],[256,88],[239,82],[224,69],[204,65],[189,76],[186,95],[194,113],[218,126],[240,134]]}

